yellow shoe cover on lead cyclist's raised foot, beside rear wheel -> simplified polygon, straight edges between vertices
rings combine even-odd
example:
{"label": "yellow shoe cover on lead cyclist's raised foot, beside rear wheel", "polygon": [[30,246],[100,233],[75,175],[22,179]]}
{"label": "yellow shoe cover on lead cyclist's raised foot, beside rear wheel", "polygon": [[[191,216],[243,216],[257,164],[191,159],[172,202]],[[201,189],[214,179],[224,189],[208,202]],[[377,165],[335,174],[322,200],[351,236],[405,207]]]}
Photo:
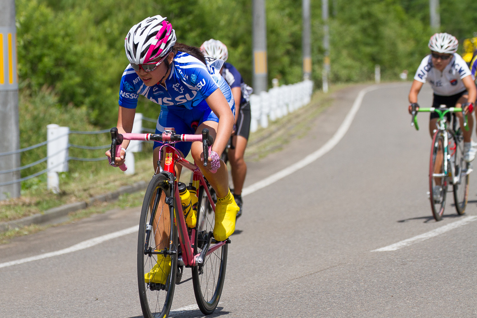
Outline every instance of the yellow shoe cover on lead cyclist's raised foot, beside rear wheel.
{"label": "yellow shoe cover on lead cyclist's raised foot, beside rear wheel", "polygon": [[239,206],[234,196],[230,193],[224,198],[217,198],[215,206],[214,239],[226,240],[235,231],[235,220],[239,212]]}

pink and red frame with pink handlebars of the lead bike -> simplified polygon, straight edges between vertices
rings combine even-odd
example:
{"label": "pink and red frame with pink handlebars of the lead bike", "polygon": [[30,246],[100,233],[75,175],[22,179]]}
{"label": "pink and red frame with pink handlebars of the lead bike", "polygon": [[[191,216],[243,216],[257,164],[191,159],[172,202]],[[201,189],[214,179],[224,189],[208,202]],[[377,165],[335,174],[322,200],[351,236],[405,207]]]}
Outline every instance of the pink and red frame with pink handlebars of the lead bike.
{"label": "pink and red frame with pink handlebars of the lead bike", "polygon": [[[176,211],[176,215],[173,215],[173,213],[171,212],[171,220],[178,221],[176,222],[176,224],[177,224],[177,231],[179,234],[178,238],[179,238],[180,247],[182,251],[182,256],[178,257],[178,264],[180,266],[184,265],[187,267],[197,266],[197,265],[201,266],[204,263],[204,259],[206,256],[213,253],[222,245],[227,244],[229,240],[217,242],[211,246],[213,235],[212,235],[212,232],[210,232],[208,233],[207,243],[206,243],[206,246],[202,249],[202,252],[194,255],[194,249],[192,248],[192,245],[195,243],[196,228],[191,229],[192,239],[189,239],[188,228],[185,223],[184,214],[182,211],[182,204],[180,202],[179,187],[177,186],[175,164],[180,164],[181,166],[192,171],[194,180],[199,180],[199,184],[202,186],[201,191],[206,191],[207,197],[209,199],[209,203],[212,206],[212,209],[214,210],[214,212],[215,212],[215,204],[214,204],[214,201],[212,200],[212,196],[207,186],[207,182],[205,181],[205,178],[202,175],[202,172],[200,171],[199,167],[195,163],[192,163],[188,161],[187,159],[181,157],[179,151],[173,145],[179,141],[204,142],[204,138],[206,137],[204,137],[204,132],[202,135],[185,135],[185,134],[173,135],[169,131],[169,130],[173,130],[173,128],[167,128],[167,129],[168,131],[162,134],[117,134],[116,132],[117,134],[116,140],[119,143],[116,149],[113,149],[113,147],[111,147],[111,153],[116,153],[117,154],[116,157],[119,157],[119,154],[121,152],[121,143],[123,140],[160,141],[163,143],[162,146],[160,146],[159,148],[158,167],[159,167],[159,173],[166,175],[167,179],[169,180],[169,183],[171,186],[171,191],[170,191],[171,199],[175,201],[175,204],[177,206],[177,209],[172,209],[173,211]],[[113,131],[111,132],[111,135],[113,136]],[[172,140],[171,138],[171,137],[175,137],[175,139],[177,139],[179,136],[180,136],[180,140]],[[207,131],[207,136],[208,136],[208,131]],[[113,140],[114,139],[115,138],[113,137]],[[204,149],[206,149],[205,146],[204,146]],[[162,157],[162,154],[164,154],[164,157]],[[208,153],[207,154],[204,153],[204,162],[207,162],[207,157],[208,157]],[[164,158],[164,168],[160,166],[161,158]],[[126,168],[127,167],[124,166],[122,169],[125,170]],[[200,200],[202,200],[202,192],[200,194],[198,193],[198,199],[199,199],[198,207],[200,209],[201,207]],[[173,206],[172,202],[166,202],[166,204],[169,204],[170,207]],[[200,214],[198,213],[198,217],[199,215]]]}

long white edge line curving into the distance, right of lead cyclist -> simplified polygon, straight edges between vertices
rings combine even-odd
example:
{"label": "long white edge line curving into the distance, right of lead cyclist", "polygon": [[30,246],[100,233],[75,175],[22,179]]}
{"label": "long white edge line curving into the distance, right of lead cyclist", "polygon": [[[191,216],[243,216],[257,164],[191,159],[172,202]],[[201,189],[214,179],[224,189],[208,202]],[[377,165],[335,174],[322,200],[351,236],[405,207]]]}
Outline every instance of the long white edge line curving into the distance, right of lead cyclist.
{"label": "long white edge line curving into the distance, right of lead cyclist", "polygon": [[333,135],[333,137],[331,137],[331,139],[328,140],[326,142],[326,144],[321,146],[320,149],[318,149],[316,152],[308,155],[304,159],[296,162],[295,164],[292,164],[292,165],[286,167],[285,169],[280,170],[280,171],[266,177],[265,179],[260,180],[258,182],[255,182],[252,185],[249,185],[248,187],[244,188],[242,190],[242,196],[251,194],[251,193],[253,193],[253,192],[255,192],[255,191],[257,191],[261,188],[269,186],[270,184],[280,180],[281,178],[284,178],[287,175],[290,175],[290,174],[294,173],[295,171],[303,168],[304,166],[312,163],[313,161],[315,161],[316,159],[320,158],[321,156],[323,156],[324,154],[329,152],[331,149],[333,149],[334,146],[336,146],[339,143],[339,141],[344,137],[344,135],[348,131],[349,127],[351,126],[351,123],[353,122],[353,119],[356,116],[356,113],[358,112],[359,108],[361,107],[361,103],[363,101],[364,95],[367,92],[375,90],[377,88],[379,88],[379,86],[370,86],[370,87],[367,87],[367,88],[365,88],[365,89],[363,89],[359,92],[358,97],[356,97],[356,99],[354,100],[353,106],[351,107],[348,114],[346,115],[343,123],[341,123],[341,126],[339,126],[338,130]]}

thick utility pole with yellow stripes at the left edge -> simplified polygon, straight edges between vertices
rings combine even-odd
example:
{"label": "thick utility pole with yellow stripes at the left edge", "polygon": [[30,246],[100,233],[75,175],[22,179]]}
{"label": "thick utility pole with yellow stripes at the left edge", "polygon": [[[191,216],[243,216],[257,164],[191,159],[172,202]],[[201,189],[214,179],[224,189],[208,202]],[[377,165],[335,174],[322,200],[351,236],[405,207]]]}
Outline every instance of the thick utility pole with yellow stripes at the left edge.
{"label": "thick utility pole with yellow stripes at the left edge", "polygon": [[[20,166],[18,127],[18,76],[16,69],[15,1],[0,0],[0,172]],[[0,173],[0,184],[20,178],[19,171]],[[0,200],[20,196],[20,183],[0,186]]]}

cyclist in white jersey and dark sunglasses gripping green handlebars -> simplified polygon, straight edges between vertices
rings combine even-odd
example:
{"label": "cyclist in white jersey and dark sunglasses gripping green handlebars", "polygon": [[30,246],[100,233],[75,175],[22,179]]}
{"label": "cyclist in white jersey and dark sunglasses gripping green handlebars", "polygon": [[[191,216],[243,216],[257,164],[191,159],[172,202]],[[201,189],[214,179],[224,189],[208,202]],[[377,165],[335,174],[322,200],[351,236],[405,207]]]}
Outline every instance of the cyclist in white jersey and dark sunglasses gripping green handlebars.
{"label": "cyclist in white jersey and dark sunglasses gripping green handlebars", "polygon": [[[419,65],[409,92],[409,113],[413,105],[417,104],[417,95],[422,85],[428,81],[434,91],[432,107],[446,105],[446,107],[463,107],[468,116],[469,130],[464,129],[462,113],[455,113],[459,118],[461,130],[464,134],[465,160],[471,162],[476,157],[476,143],[472,141],[474,119],[472,111],[477,97],[474,78],[464,59],[456,53],[459,43],[448,33],[435,33],[431,36],[428,47],[431,54],[427,55]],[[430,114],[429,133],[431,138],[436,129],[439,115]]]}

